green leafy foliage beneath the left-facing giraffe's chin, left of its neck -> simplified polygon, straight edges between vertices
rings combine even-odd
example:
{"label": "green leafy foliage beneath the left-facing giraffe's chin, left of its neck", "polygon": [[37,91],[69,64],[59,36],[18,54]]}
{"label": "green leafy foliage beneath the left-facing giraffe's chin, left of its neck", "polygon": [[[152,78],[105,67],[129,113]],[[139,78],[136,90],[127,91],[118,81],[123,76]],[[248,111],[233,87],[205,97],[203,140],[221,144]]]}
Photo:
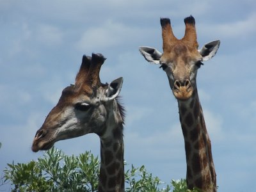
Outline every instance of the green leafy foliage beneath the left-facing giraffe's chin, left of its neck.
{"label": "green leafy foliage beneath the left-facing giraffe's chin, left of its neck", "polygon": [[13,191],[96,191],[99,159],[90,152],[77,157],[66,156],[51,148],[38,161],[8,164],[4,182]]}

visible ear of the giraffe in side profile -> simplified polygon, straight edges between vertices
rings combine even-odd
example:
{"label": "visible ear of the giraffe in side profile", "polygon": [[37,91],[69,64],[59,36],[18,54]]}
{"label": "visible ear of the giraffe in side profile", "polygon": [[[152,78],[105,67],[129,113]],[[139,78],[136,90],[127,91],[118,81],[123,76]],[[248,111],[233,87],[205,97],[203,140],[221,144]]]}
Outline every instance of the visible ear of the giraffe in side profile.
{"label": "visible ear of the giraffe in side profile", "polygon": [[115,99],[121,89],[123,84],[123,77],[119,77],[118,79],[115,79],[108,85],[108,89],[106,90],[106,100],[113,100]]}

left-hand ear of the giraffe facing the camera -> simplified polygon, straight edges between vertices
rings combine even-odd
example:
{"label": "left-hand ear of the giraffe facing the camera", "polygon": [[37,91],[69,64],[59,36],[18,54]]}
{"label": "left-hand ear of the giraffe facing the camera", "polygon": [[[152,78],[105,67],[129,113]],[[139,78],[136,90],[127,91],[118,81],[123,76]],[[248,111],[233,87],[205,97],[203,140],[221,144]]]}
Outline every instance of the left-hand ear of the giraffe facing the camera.
{"label": "left-hand ear of the giraffe facing the camera", "polygon": [[162,56],[162,53],[157,51],[157,49],[153,47],[139,47],[140,53],[144,56],[145,60],[149,63],[160,64],[159,60]]}

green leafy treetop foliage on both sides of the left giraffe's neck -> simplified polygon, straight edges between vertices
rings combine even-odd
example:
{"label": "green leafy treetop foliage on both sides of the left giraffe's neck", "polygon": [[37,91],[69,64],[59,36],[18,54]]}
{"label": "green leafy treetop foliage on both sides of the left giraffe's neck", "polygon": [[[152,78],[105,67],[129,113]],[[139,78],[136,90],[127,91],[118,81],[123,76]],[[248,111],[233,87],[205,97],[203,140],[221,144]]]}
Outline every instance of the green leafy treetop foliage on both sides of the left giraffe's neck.
{"label": "green leafy treetop foliage on both sides of the left giraffe's neck", "polygon": [[[2,184],[10,182],[12,191],[97,191],[99,167],[98,157],[91,152],[67,156],[51,148],[37,161],[8,164]],[[125,172],[125,191],[190,191],[184,179],[172,180],[171,184],[153,177],[145,166],[135,168],[132,165],[131,170]]]}

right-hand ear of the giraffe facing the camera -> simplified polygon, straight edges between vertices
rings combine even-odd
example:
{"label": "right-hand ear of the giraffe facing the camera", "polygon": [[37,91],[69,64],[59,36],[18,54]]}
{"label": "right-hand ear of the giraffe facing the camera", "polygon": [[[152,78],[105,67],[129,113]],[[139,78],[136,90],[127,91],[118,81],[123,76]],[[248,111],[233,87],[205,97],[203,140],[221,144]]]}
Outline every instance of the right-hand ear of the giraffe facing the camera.
{"label": "right-hand ear of the giraffe facing the camera", "polygon": [[215,40],[205,44],[202,49],[198,50],[203,57],[203,61],[208,61],[215,56],[220,47],[220,40]]}

